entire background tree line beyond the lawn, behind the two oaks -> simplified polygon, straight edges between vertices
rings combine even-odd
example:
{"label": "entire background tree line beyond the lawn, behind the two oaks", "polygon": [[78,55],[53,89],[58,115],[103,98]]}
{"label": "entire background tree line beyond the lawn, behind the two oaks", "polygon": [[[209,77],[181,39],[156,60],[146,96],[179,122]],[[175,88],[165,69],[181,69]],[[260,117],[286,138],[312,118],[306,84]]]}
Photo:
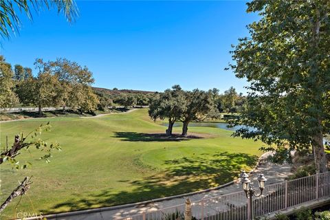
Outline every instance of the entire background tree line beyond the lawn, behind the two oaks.
{"label": "entire background tree line beyond the lawn, behind the two oaks", "polygon": [[[12,107],[14,104],[21,103],[25,106],[38,107],[40,114],[43,107],[63,107],[63,111],[69,108],[84,113],[96,109],[107,111],[115,106],[125,108],[154,106],[159,102],[159,98],[161,102],[164,102],[163,105],[167,102],[170,105],[173,101],[168,90],[163,94],[114,88],[113,90],[107,89],[107,91],[111,91],[109,93],[104,89],[93,88],[91,85],[94,83],[94,78],[89,69],[65,58],[47,62],[37,58],[34,67],[37,70],[36,76],[33,76],[31,68],[22,65],[12,67],[3,56],[0,56],[0,108]],[[183,92],[179,86],[174,86],[172,90],[170,93],[172,96]],[[185,94],[187,97],[205,95],[198,89],[191,91],[191,94],[188,91]],[[212,103],[212,108],[206,114],[208,118],[219,118],[219,113],[222,112],[239,113],[245,106],[245,96],[237,94],[233,87],[223,94],[219,94],[219,89],[211,89],[207,91],[207,96]],[[190,97],[190,100],[195,99]],[[193,107],[190,106],[190,108]],[[199,111],[197,112],[200,114]],[[192,120],[200,120],[200,118],[191,118],[186,115],[184,124],[186,125],[188,121]]]}

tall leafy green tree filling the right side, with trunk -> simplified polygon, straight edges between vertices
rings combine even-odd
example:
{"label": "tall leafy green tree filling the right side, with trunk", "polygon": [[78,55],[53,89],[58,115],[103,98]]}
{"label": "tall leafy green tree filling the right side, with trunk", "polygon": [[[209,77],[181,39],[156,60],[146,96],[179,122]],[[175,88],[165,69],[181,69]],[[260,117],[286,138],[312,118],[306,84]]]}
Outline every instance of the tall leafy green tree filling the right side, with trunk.
{"label": "tall leafy green tree filling the right side, with trunk", "polygon": [[[273,159],[291,160],[290,151],[313,148],[316,170],[327,170],[322,138],[330,131],[330,2],[252,1],[248,12],[261,19],[248,25],[231,65],[246,78],[247,109],[236,135],[259,139]],[[274,144],[276,148],[274,148]]]}

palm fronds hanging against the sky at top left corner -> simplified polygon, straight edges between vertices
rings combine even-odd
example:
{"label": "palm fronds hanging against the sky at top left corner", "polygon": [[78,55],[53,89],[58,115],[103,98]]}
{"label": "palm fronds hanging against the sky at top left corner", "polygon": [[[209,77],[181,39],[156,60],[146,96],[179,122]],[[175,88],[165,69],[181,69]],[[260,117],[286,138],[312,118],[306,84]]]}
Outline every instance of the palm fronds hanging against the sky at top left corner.
{"label": "palm fronds hanging against the sky at top left corner", "polygon": [[67,21],[72,22],[78,16],[78,8],[74,0],[0,0],[0,36],[10,38],[10,31],[19,33],[21,27],[20,14],[26,14],[32,20],[32,10],[39,12],[43,8],[56,8],[63,13]]}

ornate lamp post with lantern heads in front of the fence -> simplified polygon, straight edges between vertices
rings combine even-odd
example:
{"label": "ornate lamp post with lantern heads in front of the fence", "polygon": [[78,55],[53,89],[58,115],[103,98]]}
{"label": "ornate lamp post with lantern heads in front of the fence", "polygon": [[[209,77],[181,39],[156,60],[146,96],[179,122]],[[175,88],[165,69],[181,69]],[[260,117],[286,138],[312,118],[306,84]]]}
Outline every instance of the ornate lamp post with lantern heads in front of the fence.
{"label": "ornate lamp post with lantern heads in front of the fence", "polygon": [[256,194],[256,191],[252,188],[252,186],[250,184],[251,181],[249,179],[249,175],[247,173],[245,173],[245,170],[242,170],[239,177],[241,178],[241,183],[242,183],[245,195],[250,201],[250,210],[248,213],[248,220],[252,220],[253,219],[252,197],[253,196],[261,197],[261,195],[263,194],[263,189],[265,188],[265,181],[267,181],[267,179],[265,178],[265,176],[263,174],[260,174],[259,177],[257,178],[258,182],[259,182],[259,189],[260,189],[260,194],[258,195],[258,194]]}

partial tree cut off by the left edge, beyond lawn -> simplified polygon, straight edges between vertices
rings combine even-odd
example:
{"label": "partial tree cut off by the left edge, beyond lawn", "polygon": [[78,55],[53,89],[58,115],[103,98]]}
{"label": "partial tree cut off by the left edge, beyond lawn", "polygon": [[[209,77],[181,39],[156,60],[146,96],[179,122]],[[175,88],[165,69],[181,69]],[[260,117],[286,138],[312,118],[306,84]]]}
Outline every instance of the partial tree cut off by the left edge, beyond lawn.
{"label": "partial tree cut off by the left edge, beyond lawn", "polygon": [[13,91],[13,72],[10,63],[5,62],[5,58],[0,56],[0,108],[11,107],[18,101]]}

